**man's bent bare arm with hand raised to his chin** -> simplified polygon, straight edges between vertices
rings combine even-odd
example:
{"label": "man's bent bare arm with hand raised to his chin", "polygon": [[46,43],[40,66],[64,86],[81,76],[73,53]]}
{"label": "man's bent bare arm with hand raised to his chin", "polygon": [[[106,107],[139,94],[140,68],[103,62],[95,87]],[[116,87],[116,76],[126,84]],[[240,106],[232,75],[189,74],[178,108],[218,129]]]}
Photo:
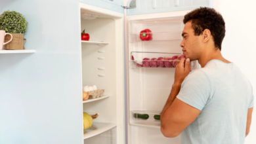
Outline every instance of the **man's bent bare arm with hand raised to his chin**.
{"label": "man's bent bare arm with hand raised to his chin", "polygon": [[181,83],[188,75],[190,70],[190,62],[181,60],[175,70],[175,82],[171,89],[171,94],[167,99],[165,107],[161,112],[161,132],[165,137],[176,137],[191,124],[200,114],[200,110],[196,109],[183,101],[176,99],[181,90]]}

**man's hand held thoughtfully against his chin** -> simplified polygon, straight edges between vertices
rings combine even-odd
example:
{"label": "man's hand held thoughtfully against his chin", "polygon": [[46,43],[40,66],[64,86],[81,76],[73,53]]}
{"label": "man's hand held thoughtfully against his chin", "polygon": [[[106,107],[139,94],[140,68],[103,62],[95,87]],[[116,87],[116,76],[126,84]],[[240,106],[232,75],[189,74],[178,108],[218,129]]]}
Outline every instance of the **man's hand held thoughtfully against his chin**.
{"label": "man's hand held thoughtfully against his chin", "polygon": [[175,69],[174,84],[181,84],[186,78],[186,76],[188,76],[190,71],[191,71],[190,59],[182,58],[180,63],[176,66],[176,69]]}

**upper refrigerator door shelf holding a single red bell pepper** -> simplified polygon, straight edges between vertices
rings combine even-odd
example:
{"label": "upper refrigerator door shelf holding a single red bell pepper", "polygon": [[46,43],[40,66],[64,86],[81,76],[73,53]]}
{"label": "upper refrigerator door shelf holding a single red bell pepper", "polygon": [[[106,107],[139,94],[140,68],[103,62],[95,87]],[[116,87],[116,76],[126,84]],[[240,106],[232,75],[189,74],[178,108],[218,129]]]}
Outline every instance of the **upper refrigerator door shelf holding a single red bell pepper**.
{"label": "upper refrigerator door shelf holding a single red bell pepper", "polygon": [[[146,35],[152,35],[152,40],[150,41],[181,41],[182,31],[171,31],[171,32],[163,32],[163,33],[145,33]],[[140,33],[130,34],[130,43],[136,42],[150,42],[150,41],[142,41],[140,39]]]}

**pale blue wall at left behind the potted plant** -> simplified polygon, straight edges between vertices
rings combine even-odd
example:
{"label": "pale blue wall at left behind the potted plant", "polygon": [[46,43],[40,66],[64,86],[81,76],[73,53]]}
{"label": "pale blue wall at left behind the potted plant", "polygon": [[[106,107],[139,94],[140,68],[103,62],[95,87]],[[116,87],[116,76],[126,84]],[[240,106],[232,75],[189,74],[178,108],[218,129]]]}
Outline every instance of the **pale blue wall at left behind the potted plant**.
{"label": "pale blue wall at left behind the potted plant", "polygon": [[5,10],[26,17],[36,52],[0,54],[0,143],[83,143],[77,0],[0,0]]}

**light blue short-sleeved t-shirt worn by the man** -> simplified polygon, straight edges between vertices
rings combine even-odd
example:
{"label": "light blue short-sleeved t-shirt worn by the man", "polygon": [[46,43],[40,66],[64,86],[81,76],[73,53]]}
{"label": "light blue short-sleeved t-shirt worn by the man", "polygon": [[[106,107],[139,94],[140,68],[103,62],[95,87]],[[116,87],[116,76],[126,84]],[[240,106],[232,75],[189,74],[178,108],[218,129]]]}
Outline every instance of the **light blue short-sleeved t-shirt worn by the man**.
{"label": "light blue short-sleeved t-shirt worn by the man", "polygon": [[251,83],[234,63],[211,60],[184,79],[178,99],[200,115],[181,134],[182,144],[242,144]]}

